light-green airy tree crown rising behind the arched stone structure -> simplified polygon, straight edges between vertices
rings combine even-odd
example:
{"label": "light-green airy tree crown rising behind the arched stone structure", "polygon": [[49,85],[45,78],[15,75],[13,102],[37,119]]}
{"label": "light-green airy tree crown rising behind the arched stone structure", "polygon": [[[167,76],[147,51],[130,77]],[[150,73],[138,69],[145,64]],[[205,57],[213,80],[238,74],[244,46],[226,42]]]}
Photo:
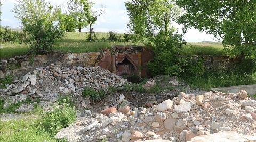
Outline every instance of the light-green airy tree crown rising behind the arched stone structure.
{"label": "light-green airy tree crown rising behind the arched stone structure", "polygon": [[170,31],[170,22],[182,12],[172,0],[132,0],[125,5],[131,31],[143,37],[154,37],[159,31]]}

